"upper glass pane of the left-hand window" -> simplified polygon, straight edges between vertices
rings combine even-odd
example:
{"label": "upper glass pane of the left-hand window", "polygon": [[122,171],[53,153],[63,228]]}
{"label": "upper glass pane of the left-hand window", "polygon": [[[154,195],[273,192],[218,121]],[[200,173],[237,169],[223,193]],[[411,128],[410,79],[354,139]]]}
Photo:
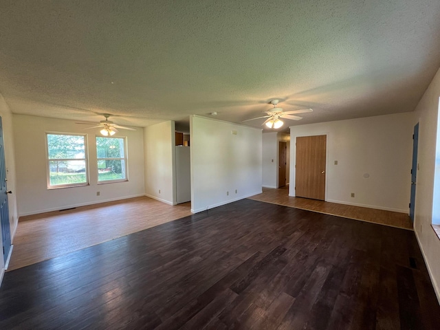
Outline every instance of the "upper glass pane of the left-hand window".
{"label": "upper glass pane of the left-hand window", "polygon": [[85,159],[83,135],[47,134],[49,159]]}

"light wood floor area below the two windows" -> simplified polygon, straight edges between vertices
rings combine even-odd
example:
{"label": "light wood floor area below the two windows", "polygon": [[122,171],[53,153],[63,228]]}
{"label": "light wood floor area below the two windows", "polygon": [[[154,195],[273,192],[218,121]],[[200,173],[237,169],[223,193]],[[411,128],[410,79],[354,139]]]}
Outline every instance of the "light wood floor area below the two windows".
{"label": "light wood floor area below the two windows", "polygon": [[111,241],[192,214],[148,197],[20,217],[8,271]]}

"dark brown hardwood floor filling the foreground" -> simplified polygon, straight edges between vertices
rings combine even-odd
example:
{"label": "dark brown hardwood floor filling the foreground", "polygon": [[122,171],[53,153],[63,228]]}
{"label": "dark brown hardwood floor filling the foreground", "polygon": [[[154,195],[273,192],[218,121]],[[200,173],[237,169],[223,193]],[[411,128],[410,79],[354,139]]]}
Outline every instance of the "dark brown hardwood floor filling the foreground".
{"label": "dark brown hardwood floor filling the foreground", "polygon": [[0,288],[0,329],[439,327],[414,232],[250,199],[12,270]]}

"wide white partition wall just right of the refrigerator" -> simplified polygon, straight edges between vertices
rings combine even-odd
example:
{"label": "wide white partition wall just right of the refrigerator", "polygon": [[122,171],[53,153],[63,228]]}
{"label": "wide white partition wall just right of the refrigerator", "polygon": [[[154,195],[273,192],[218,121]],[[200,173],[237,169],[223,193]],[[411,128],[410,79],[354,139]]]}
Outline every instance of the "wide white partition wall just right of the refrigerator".
{"label": "wide white partition wall just right of the refrigerator", "polygon": [[261,192],[261,129],[192,115],[190,135],[192,212]]}

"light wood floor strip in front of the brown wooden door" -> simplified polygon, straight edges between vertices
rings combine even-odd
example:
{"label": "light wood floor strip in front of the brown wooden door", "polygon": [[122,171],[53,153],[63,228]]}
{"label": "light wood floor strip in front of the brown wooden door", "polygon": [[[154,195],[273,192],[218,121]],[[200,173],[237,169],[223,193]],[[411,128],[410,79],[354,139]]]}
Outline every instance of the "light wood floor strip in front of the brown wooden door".
{"label": "light wood floor strip in front of the brown wooden door", "polygon": [[329,203],[327,201],[317,201],[316,199],[289,197],[287,187],[280,189],[263,188],[262,194],[254,195],[250,197],[250,199],[412,230],[412,222],[406,213],[376,210],[373,208],[362,208],[359,206],[350,206],[339,203]]}

